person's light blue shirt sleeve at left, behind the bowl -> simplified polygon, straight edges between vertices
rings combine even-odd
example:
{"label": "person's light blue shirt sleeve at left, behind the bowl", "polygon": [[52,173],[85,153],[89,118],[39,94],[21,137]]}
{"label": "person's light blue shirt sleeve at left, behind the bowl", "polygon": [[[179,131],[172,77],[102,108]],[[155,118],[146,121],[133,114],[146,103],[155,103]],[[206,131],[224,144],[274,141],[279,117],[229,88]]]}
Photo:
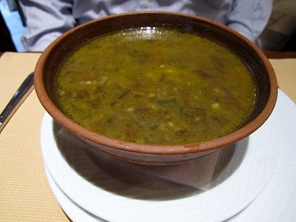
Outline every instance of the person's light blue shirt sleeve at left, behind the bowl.
{"label": "person's light blue shirt sleeve at left, behind the bowl", "polygon": [[43,51],[75,26],[71,0],[20,0],[20,6],[27,24],[21,37],[26,51]]}

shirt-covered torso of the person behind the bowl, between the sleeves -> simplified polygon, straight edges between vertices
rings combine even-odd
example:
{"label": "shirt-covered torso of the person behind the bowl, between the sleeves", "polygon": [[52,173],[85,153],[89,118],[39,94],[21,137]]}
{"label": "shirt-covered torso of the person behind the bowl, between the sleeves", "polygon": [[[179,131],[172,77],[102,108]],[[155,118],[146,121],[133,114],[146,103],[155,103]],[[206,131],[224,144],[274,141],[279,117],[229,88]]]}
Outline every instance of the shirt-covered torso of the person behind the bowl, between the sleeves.
{"label": "shirt-covered torso of the person behind the bowl, between the sleeves", "polygon": [[131,11],[171,11],[227,22],[233,0],[74,0],[77,25],[103,16]]}

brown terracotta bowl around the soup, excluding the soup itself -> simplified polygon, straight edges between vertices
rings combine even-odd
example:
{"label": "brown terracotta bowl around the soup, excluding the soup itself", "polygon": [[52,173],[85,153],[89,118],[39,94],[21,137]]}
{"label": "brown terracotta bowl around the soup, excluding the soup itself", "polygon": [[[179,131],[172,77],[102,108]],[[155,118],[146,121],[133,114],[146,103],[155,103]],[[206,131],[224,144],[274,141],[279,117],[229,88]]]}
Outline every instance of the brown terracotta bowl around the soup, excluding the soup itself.
{"label": "brown terracotta bowl around the soup, excluding the soup itself", "polygon": [[[140,27],[161,27],[214,39],[235,51],[244,60],[258,83],[258,95],[247,122],[238,130],[218,139],[183,145],[148,145],[112,139],[92,132],[68,118],[56,101],[53,85],[61,62],[76,47],[94,37],[114,31]],[[134,12],[113,15],[80,25],[50,44],[39,58],[35,70],[35,89],[44,109],[60,125],[92,145],[117,158],[139,164],[163,165],[195,159],[235,143],[256,131],[272,112],[277,99],[277,81],[268,59],[247,38],[218,23],[169,12]]]}

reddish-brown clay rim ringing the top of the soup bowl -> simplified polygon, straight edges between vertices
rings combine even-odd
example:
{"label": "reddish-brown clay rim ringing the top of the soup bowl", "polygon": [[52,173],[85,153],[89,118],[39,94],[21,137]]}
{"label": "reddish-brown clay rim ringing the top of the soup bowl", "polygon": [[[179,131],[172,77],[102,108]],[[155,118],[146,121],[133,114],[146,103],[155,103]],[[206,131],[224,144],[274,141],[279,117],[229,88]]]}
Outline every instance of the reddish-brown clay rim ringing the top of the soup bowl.
{"label": "reddish-brown clay rim ringing the top of the soup bowl", "polygon": [[[104,22],[106,19],[126,16],[126,15],[128,16],[128,15],[134,15],[134,14],[153,14],[153,13],[154,14],[156,13],[159,15],[185,16],[194,20],[200,20],[202,22],[206,22],[211,25],[214,25],[222,30],[226,30],[226,32],[231,33],[232,35],[242,39],[243,42],[248,44],[252,48],[252,50],[254,50],[254,52],[259,56],[261,62],[263,63],[263,67],[266,69],[266,73],[268,74],[268,80],[270,84],[269,98],[267,100],[267,103],[264,109],[259,113],[259,115],[255,119],[253,119],[250,123],[243,126],[242,128],[217,139],[197,142],[197,143],[190,143],[190,144],[181,144],[181,145],[157,145],[157,144],[155,145],[155,144],[140,144],[140,143],[122,141],[118,139],[109,138],[107,136],[90,131],[85,127],[72,121],[69,117],[67,117],[63,112],[61,112],[53,104],[44,87],[42,69],[43,69],[44,63],[46,62],[46,58],[48,57],[48,54],[51,53],[55,47],[58,47],[59,42],[65,36],[73,35],[73,33],[76,30],[80,29],[81,27],[88,26],[96,22]],[[102,17],[102,18],[84,23],[82,25],[79,25],[71,29],[70,31],[63,34],[61,37],[58,37],[42,52],[41,56],[37,61],[37,65],[35,69],[34,84],[35,84],[37,97],[41,105],[44,107],[44,109],[52,116],[53,119],[55,119],[55,121],[57,121],[60,125],[68,129],[70,132],[74,133],[76,136],[108,148],[118,149],[118,150],[127,151],[127,152],[155,154],[155,155],[189,154],[189,153],[215,150],[215,149],[233,144],[249,136],[254,131],[256,131],[267,120],[267,118],[271,114],[276,103],[277,90],[278,90],[276,76],[273,71],[273,68],[271,67],[271,64],[269,63],[268,59],[263,54],[263,52],[252,41],[242,36],[241,34],[237,33],[236,31],[222,24],[219,24],[217,22],[204,19],[198,16],[175,13],[175,12],[163,12],[163,11],[129,12],[129,13],[110,15],[110,16]],[[95,149],[99,149],[99,148],[95,148]]]}

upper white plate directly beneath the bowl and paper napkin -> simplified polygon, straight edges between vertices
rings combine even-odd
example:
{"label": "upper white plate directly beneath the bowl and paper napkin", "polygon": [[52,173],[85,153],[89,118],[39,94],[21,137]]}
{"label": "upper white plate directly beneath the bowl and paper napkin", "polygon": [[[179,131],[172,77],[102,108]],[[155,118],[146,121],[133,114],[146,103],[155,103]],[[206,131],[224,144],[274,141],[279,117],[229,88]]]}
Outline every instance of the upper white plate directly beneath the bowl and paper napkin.
{"label": "upper white plate directly beneath the bowl and paper napkin", "polygon": [[273,118],[231,149],[220,151],[206,192],[131,175],[108,159],[94,158],[82,148],[85,143],[72,141],[47,113],[41,126],[41,149],[48,171],[63,193],[104,220],[223,221],[248,206],[272,175],[278,153]]}

